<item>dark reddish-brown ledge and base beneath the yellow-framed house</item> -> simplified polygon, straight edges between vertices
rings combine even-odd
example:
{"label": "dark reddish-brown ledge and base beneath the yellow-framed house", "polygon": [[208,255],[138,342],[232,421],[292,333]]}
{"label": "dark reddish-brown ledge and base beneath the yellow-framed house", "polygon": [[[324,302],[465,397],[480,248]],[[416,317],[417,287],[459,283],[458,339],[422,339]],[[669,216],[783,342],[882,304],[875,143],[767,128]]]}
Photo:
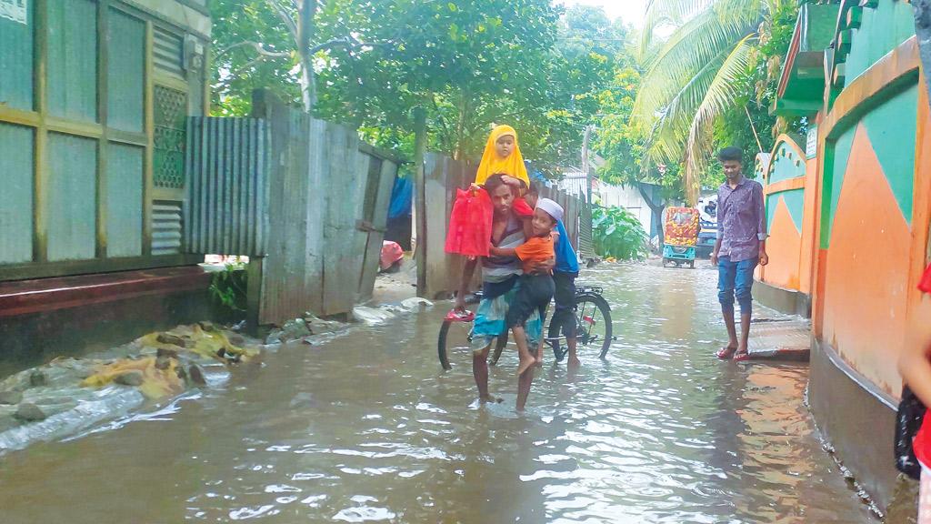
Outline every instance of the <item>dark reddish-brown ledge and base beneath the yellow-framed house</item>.
{"label": "dark reddish-brown ledge and base beneath the yellow-framed house", "polygon": [[209,284],[197,266],[0,283],[0,377],[210,320]]}

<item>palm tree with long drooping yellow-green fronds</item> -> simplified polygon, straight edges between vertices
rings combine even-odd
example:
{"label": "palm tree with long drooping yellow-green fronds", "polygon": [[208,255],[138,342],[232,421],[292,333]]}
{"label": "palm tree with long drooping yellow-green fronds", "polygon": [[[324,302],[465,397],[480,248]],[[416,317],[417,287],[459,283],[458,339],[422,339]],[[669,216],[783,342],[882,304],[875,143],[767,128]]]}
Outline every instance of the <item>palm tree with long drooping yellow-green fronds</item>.
{"label": "palm tree with long drooping yellow-green fronds", "polygon": [[[795,0],[649,0],[641,36],[644,75],[633,115],[650,130],[646,162],[685,164],[689,202],[714,150],[712,125],[748,89],[740,81],[772,15]],[[657,29],[672,28],[662,41]]]}

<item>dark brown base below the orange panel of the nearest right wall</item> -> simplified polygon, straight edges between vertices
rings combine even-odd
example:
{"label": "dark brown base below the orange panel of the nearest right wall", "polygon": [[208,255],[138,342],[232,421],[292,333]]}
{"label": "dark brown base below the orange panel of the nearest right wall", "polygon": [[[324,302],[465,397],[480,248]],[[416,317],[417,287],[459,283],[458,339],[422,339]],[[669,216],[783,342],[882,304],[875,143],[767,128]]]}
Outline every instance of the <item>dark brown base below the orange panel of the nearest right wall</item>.
{"label": "dark brown base below the orange panel of the nearest right wall", "polygon": [[830,345],[816,340],[808,402],[837,458],[885,512],[898,476],[892,454],[896,400],[843,362]]}

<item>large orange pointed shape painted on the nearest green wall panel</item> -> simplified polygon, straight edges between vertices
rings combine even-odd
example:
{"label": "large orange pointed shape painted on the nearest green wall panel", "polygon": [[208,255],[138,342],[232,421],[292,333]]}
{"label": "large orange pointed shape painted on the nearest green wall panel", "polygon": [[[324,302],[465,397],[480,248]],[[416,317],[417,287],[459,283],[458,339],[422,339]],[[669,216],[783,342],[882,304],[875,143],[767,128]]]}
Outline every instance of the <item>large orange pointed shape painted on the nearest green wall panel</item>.
{"label": "large orange pointed shape painted on the nearest green wall panel", "polygon": [[865,128],[857,129],[830,236],[824,331],[844,360],[888,392],[901,389],[911,231]]}

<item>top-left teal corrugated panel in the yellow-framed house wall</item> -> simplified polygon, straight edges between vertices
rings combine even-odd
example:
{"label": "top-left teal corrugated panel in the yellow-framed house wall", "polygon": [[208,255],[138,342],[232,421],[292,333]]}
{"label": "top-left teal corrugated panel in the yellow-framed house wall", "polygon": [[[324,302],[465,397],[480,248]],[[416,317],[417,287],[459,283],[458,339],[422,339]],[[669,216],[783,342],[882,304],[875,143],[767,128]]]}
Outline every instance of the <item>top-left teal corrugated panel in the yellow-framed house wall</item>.
{"label": "top-left teal corrugated panel in the yellow-framed house wall", "polygon": [[27,6],[25,24],[0,18],[0,103],[27,111],[33,108],[34,5]]}

